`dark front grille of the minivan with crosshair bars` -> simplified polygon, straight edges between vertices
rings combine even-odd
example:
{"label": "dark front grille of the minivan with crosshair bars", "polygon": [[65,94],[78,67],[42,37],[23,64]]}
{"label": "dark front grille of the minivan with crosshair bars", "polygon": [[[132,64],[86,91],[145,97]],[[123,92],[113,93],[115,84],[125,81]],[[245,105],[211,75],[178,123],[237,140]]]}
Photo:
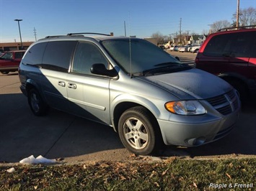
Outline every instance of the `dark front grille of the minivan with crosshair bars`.
{"label": "dark front grille of the minivan with crosshair bars", "polygon": [[235,90],[213,98],[208,98],[206,101],[222,115],[228,115],[239,107],[239,98]]}

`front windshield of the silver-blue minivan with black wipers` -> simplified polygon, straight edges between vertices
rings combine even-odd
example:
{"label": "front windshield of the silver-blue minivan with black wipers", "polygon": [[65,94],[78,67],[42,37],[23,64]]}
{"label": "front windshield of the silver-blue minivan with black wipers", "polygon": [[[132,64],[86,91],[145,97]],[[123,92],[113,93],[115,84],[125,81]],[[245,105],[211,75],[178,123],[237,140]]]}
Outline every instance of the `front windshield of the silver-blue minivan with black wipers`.
{"label": "front windshield of the silver-blue minivan with black wipers", "polygon": [[106,39],[102,45],[118,65],[131,75],[156,75],[187,70],[189,66],[144,39]]}

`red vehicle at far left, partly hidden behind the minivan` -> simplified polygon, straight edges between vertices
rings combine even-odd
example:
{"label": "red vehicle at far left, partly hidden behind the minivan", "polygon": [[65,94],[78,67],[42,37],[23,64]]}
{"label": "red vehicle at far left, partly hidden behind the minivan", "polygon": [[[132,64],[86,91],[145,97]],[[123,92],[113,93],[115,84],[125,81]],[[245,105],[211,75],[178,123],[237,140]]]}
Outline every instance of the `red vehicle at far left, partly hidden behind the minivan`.
{"label": "red vehicle at far left, partly hidden behind the minivan", "polygon": [[25,50],[4,52],[0,57],[0,72],[8,74],[17,71],[24,54]]}

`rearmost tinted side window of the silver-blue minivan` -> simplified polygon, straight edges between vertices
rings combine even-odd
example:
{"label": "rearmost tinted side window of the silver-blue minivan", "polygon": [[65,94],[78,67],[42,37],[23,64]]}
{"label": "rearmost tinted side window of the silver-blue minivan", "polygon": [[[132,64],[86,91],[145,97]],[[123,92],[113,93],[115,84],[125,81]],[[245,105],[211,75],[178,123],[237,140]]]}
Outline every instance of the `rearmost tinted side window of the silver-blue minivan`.
{"label": "rearmost tinted side window of the silver-blue minivan", "polygon": [[22,60],[23,64],[26,65],[41,65],[43,60],[43,52],[45,52],[45,47],[47,42],[42,42],[33,45],[26,53]]}

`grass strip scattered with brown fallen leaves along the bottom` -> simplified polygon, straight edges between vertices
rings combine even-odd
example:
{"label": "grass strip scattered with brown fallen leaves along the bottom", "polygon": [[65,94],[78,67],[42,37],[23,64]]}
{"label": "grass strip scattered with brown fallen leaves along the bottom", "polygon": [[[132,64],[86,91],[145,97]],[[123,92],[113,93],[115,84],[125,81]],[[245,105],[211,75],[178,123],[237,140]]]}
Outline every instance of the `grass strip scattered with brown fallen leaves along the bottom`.
{"label": "grass strip scattered with brown fallen leaves along the bottom", "polygon": [[0,190],[255,190],[256,159],[0,167]]}

